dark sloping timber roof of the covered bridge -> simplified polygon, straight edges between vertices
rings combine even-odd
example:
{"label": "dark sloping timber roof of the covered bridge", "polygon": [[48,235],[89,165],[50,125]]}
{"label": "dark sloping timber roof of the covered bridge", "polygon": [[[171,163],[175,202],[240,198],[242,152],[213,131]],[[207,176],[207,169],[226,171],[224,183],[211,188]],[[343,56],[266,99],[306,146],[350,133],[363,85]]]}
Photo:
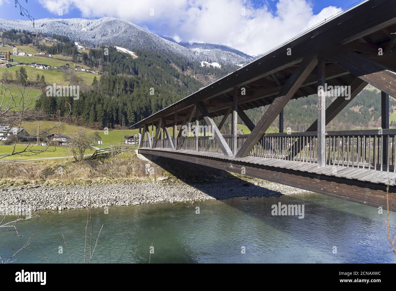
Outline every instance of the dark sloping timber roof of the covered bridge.
{"label": "dark sloping timber roof of the covered bridge", "polygon": [[[209,113],[221,116],[230,107],[234,87],[246,88],[246,94],[239,90],[238,105],[244,109],[265,106],[280,92],[298,64],[307,54],[318,54],[333,50],[334,46],[343,46],[348,50],[377,61],[381,65],[396,68],[395,45],[396,0],[367,0],[353,8],[333,15],[312,29],[281,44],[263,56],[251,61],[240,69],[201,88],[157,113],[139,121],[133,126],[142,126],[161,117],[166,123],[173,123],[177,111],[177,121],[182,121],[196,102],[204,102]],[[393,47],[390,47],[393,46]],[[379,49],[388,50],[379,56]],[[288,50],[290,49],[290,50]],[[287,52],[291,54],[287,54]],[[326,60],[326,83],[328,86],[346,86],[353,84],[356,74]],[[318,73],[314,69],[299,87],[294,99],[317,93]]]}

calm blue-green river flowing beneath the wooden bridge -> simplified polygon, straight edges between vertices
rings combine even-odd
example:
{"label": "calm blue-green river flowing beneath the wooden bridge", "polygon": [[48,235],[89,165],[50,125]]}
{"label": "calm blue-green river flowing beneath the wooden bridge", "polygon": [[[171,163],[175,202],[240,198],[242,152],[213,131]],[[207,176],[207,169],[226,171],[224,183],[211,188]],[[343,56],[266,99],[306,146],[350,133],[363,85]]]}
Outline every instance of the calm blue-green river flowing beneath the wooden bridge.
{"label": "calm blue-green river flowing beneath the wooden bridge", "polygon": [[[304,218],[273,216],[278,202],[304,205]],[[92,261],[396,263],[384,218],[386,211],[316,193],[110,207],[108,214],[92,209],[93,247],[104,225]],[[42,211],[32,243],[16,262],[70,262],[62,234],[74,263],[82,262],[86,220],[86,210]],[[390,224],[395,235],[395,213]],[[18,225],[23,237],[0,230],[3,257],[25,243],[35,221]]]}

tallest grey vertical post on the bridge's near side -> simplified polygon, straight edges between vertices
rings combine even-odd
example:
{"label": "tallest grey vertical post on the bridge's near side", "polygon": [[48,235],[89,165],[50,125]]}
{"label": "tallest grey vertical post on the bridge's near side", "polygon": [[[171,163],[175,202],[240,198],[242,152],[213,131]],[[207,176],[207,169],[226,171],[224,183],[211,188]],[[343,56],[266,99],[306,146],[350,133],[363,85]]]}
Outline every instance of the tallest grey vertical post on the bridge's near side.
{"label": "tallest grey vertical post on the bridge's near side", "polygon": [[318,168],[326,166],[326,60],[318,58]]}

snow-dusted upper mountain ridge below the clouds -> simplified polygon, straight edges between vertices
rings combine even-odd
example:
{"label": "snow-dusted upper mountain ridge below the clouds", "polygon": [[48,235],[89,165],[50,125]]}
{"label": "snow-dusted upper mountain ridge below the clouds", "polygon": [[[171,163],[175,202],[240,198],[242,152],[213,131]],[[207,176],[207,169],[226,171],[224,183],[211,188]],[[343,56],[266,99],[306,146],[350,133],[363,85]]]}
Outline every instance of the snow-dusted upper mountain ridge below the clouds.
{"label": "snow-dusted upper mountain ridge below the clouds", "polygon": [[111,45],[126,48],[132,52],[139,49],[165,51],[170,54],[187,57],[192,61],[208,61],[219,64],[240,65],[251,60],[248,56],[228,46],[200,43],[179,44],[175,40],[165,39],[131,22],[103,17],[101,19],[52,19],[34,20],[0,19],[0,29],[21,29],[38,33],[60,34],[70,39],[92,46]]}

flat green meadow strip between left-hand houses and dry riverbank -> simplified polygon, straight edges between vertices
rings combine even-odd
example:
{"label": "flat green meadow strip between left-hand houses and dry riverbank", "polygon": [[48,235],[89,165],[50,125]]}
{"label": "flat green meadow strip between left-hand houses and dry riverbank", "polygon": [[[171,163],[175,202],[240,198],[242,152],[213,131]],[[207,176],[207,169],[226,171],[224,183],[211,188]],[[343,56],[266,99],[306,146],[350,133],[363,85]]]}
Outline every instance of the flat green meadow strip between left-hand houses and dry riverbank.
{"label": "flat green meadow strip between left-hand houses and dry riverbank", "polygon": [[[26,144],[17,144],[15,147],[15,151],[22,151],[25,149]],[[46,147],[43,146],[36,146],[33,145],[32,147],[29,147],[29,149],[32,150],[43,150],[46,149]],[[13,150],[12,145],[0,145],[0,156],[11,153]],[[89,149],[86,151],[86,154],[91,154],[95,151],[95,149]],[[34,153],[24,153],[24,155],[12,155],[8,157],[4,157],[0,159],[0,161],[5,160],[27,160],[27,159],[42,159],[42,158],[50,158],[50,157],[67,157],[72,155],[70,152],[70,148],[66,146],[58,146],[58,147],[48,147],[46,151],[39,153],[39,154],[34,154]]]}

